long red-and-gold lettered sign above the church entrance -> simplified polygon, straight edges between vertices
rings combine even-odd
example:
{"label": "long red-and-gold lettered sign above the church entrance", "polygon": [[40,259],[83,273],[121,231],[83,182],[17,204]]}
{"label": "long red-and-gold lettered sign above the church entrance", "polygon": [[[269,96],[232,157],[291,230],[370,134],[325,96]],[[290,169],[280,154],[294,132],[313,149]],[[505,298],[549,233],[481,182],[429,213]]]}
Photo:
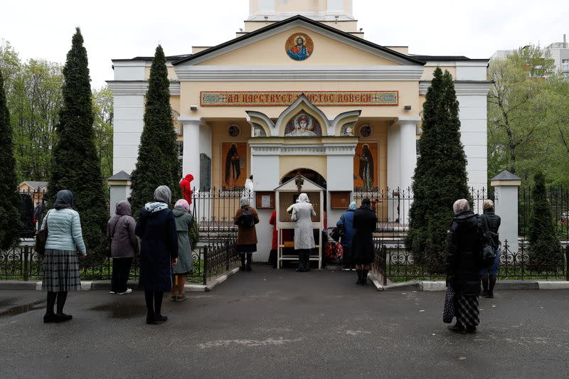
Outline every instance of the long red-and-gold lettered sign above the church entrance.
{"label": "long red-and-gold lettered sign above the church entrance", "polygon": [[398,91],[248,91],[201,92],[202,107],[289,105],[302,95],[314,105],[399,105]]}

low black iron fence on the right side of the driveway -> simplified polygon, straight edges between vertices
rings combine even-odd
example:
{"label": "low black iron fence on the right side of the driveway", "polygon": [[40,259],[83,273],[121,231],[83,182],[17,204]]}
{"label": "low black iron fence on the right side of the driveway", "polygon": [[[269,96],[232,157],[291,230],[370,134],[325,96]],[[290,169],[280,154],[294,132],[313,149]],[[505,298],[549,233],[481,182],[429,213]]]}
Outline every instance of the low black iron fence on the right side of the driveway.
{"label": "low black iron fence on the right side of the driveway", "polygon": [[[512,252],[508,241],[504,241],[500,251],[499,279],[565,279],[569,280],[569,246],[562,247],[563,261],[559,265],[544,262],[536,265],[531,261],[528,241],[519,243],[519,250]],[[444,264],[418,264],[413,254],[400,244],[385,245],[376,241],[376,261],[373,271],[383,280],[383,285],[390,282],[408,280],[445,280]]]}

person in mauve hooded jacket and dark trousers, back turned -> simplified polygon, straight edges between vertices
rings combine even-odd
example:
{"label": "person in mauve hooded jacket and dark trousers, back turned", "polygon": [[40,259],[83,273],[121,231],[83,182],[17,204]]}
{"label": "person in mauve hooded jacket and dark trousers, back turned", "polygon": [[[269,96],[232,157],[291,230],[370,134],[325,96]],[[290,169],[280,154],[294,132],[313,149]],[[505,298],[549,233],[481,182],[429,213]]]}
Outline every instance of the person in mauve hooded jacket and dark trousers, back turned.
{"label": "person in mauve hooded jacket and dark trousers, back turned", "polygon": [[134,255],[140,251],[139,240],[134,234],[136,221],[132,218],[130,203],[120,201],[115,208],[115,215],[107,223],[107,237],[112,238],[112,277],[110,294],[129,294],[127,288],[130,267]]}

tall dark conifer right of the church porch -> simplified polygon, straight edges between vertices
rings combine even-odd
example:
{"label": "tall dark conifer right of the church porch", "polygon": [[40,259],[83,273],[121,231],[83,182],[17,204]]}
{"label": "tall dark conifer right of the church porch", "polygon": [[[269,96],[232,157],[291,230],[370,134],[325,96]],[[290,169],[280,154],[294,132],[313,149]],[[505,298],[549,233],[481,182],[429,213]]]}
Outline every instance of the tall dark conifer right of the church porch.
{"label": "tall dark conifer right of the church porch", "polygon": [[420,156],[405,238],[415,262],[436,270],[445,262],[452,204],[459,198],[470,201],[458,105],[452,75],[437,68],[423,105]]}

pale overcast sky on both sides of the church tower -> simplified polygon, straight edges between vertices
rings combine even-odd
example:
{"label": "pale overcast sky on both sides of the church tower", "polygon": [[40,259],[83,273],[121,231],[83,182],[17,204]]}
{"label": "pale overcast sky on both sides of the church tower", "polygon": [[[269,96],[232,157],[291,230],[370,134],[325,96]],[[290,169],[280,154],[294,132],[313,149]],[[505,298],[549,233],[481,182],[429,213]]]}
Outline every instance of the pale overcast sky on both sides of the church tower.
{"label": "pale overcast sky on both sides of the church tower", "polygon": [[[466,4],[469,5],[466,5]],[[87,5],[88,4],[88,5]],[[166,4],[171,8],[166,8]],[[191,52],[235,38],[248,0],[10,0],[1,9],[0,39],[23,60],[64,63],[75,26],[89,56],[93,87],[112,80],[112,58]],[[425,55],[489,58],[496,50],[529,43],[546,46],[569,34],[569,3],[562,0],[353,0],[366,39],[409,46]]]}

